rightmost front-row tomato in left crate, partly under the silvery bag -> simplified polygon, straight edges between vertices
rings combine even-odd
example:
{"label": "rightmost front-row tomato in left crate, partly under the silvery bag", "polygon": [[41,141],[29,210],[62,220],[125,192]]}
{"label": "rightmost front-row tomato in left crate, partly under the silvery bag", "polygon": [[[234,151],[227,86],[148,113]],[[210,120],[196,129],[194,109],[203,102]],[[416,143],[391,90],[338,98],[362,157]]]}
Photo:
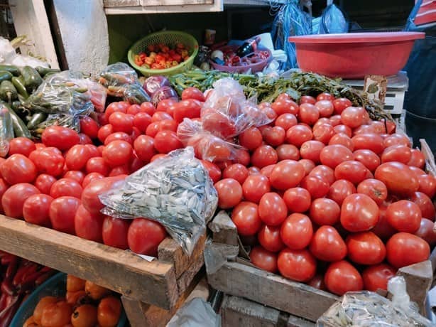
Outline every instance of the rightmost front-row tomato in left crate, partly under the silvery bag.
{"label": "rightmost front-row tomato in left crate, partly under the silvery bag", "polygon": [[132,252],[158,257],[158,246],[167,236],[165,228],[156,221],[135,218],[127,232],[127,242]]}

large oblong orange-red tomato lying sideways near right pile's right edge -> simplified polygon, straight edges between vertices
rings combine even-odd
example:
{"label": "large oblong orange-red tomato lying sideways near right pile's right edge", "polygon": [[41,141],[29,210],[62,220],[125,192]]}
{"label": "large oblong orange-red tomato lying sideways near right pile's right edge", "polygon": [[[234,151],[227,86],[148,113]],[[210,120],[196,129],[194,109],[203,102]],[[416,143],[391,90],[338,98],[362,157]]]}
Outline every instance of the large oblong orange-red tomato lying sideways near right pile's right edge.
{"label": "large oblong orange-red tomato lying sideways near right pile's right edge", "polygon": [[418,191],[420,183],[415,173],[400,162],[387,162],[376,168],[374,176],[382,181],[389,193],[396,195],[411,195]]}

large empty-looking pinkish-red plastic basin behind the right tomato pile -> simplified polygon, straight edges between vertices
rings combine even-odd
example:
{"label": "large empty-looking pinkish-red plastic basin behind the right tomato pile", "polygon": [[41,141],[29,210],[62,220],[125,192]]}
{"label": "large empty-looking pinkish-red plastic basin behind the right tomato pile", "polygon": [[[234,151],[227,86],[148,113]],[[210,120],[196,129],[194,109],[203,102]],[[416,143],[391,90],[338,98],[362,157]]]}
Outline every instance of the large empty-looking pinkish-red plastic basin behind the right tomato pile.
{"label": "large empty-looking pinkish-red plastic basin behind the right tomato pile", "polygon": [[292,36],[300,69],[329,77],[362,79],[395,75],[404,67],[413,43],[425,33],[344,33]]}

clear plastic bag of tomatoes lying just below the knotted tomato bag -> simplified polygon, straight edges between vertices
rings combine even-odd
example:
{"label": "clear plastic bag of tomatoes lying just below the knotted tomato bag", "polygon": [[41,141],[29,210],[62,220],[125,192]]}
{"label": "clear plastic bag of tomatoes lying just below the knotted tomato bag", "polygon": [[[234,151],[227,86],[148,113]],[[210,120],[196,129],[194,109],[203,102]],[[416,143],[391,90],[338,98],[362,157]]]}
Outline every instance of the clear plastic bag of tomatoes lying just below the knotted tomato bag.
{"label": "clear plastic bag of tomatoes lying just below the knotted tomato bag", "polygon": [[202,123],[183,119],[177,129],[177,135],[184,146],[192,146],[198,159],[219,162],[236,158],[236,150],[242,146],[224,141],[202,128]]}

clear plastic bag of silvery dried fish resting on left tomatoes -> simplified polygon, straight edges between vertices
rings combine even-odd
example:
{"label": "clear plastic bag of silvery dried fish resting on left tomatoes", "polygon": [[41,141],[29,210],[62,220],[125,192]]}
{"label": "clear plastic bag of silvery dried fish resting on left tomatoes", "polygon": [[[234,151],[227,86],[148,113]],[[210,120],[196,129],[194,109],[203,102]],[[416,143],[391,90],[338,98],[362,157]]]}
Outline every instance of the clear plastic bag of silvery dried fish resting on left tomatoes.
{"label": "clear plastic bag of silvery dried fish resting on left tomatoes", "polygon": [[178,149],[126,177],[124,185],[99,195],[102,212],[116,218],[158,221],[191,254],[217,209],[218,194],[194,149]]}

